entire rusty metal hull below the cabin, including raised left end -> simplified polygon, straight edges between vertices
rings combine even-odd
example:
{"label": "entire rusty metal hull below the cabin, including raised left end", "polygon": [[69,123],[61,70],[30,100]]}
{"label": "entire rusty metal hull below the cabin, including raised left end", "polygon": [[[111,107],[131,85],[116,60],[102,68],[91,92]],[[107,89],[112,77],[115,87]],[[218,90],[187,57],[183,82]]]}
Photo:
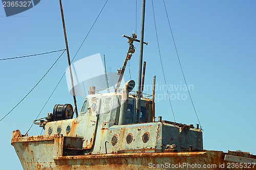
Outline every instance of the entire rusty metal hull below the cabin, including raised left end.
{"label": "entire rusty metal hull below the cabin, including raised left end", "polygon": [[256,169],[256,156],[241,152],[140,150],[141,153],[63,156],[65,136],[22,136],[18,130],[14,132],[11,144],[24,169]]}

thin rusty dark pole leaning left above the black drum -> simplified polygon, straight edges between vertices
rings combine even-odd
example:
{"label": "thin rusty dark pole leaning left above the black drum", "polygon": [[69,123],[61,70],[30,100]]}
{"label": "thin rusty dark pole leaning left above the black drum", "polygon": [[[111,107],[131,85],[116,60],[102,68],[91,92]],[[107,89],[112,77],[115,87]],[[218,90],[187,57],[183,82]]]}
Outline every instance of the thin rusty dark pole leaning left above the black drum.
{"label": "thin rusty dark pole leaning left above the black drum", "polygon": [[69,56],[68,39],[67,39],[67,34],[66,34],[65,20],[64,20],[64,14],[63,14],[61,0],[59,0],[59,6],[60,6],[62,25],[63,25],[63,31],[64,31],[64,36],[65,36],[67,55],[68,55],[69,71],[70,71],[70,78],[71,78],[71,84],[72,84],[73,99],[74,99],[74,104],[75,104],[75,112],[76,112],[76,117],[77,117],[78,112],[77,112],[77,105],[76,105],[76,94],[75,94],[74,81],[73,81],[73,76],[72,76],[71,62],[70,62],[70,56]]}

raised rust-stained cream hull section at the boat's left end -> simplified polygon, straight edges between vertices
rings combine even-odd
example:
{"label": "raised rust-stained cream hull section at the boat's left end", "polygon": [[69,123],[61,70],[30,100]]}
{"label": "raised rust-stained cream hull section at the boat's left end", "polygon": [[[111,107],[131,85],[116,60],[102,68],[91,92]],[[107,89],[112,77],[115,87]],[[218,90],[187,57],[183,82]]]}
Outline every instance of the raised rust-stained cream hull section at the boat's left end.
{"label": "raised rust-stained cream hull section at the boat's left end", "polygon": [[11,144],[24,169],[51,169],[54,156],[63,155],[63,136],[22,136],[13,131]]}

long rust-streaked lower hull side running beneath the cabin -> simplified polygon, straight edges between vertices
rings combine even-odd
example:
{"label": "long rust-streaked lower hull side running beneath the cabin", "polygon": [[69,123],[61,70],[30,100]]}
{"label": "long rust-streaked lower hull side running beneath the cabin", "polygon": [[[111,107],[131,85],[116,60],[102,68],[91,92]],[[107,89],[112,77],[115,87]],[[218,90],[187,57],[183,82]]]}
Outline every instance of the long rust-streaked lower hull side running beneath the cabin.
{"label": "long rust-streaked lower hull side running beneath the cabin", "polygon": [[255,169],[230,168],[218,151],[179,153],[124,153],[54,157],[56,169]]}

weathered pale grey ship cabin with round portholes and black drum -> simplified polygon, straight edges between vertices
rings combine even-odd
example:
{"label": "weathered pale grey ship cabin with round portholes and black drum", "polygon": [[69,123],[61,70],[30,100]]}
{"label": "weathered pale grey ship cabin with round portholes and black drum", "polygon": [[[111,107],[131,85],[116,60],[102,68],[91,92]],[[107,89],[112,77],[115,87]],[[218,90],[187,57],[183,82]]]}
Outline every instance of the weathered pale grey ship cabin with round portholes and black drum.
{"label": "weathered pale grey ship cabin with round portholes and black drum", "polygon": [[137,96],[130,94],[134,86],[131,80],[116,92],[89,91],[77,118],[70,117],[70,104],[55,105],[48,113],[45,135],[63,136],[64,156],[203,150],[198,126],[155,119],[154,96],[141,97],[138,115]]}

